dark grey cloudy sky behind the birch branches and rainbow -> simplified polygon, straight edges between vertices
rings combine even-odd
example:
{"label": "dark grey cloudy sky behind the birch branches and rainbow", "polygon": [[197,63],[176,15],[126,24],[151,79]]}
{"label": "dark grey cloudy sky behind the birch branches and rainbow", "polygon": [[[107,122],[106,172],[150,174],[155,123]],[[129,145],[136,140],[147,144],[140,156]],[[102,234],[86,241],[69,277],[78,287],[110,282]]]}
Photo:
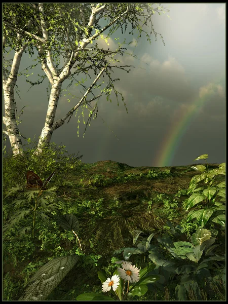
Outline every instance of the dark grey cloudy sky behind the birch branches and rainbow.
{"label": "dark grey cloudy sky behind the birch branches and rainbow", "polygon": [[[53,133],[52,141],[66,145],[69,153],[79,151],[84,163],[112,160],[134,167],[180,166],[197,163],[194,159],[202,154],[209,155],[209,163],[225,162],[225,4],[162,5],[170,9],[171,20],[167,14],[156,14],[153,23],[165,46],[159,36],[155,42],[153,35],[151,45],[143,36],[135,46],[137,35],[129,35],[128,30],[124,35],[115,32],[109,46],[100,42],[115,50],[115,37],[120,42],[133,40],[125,47],[138,59],[124,55],[121,63],[136,67],[130,73],[115,70],[115,77],[121,79],[116,89],[123,94],[128,113],[121,98],[118,106],[115,94],[112,103],[104,96],[84,138],[83,118],[78,137],[74,115]],[[24,54],[20,70],[31,62]],[[39,68],[33,72],[42,73]],[[37,138],[47,111],[47,82],[29,91],[25,78],[20,77],[17,84],[22,98],[17,97],[17,108],[26,106],[20,131]],[[82,97],[73,86],[69,92]],[[78,103],[68,98],[64,93],[60,97],[56,119]]]}

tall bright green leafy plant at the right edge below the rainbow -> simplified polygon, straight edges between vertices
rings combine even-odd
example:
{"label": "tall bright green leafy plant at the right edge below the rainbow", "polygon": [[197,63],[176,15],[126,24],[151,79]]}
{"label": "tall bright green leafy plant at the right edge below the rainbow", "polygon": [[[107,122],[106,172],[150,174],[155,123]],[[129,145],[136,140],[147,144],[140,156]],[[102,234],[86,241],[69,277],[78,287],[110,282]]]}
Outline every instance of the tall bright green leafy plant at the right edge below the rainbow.
{"label": "tall bright green leafy plant at the right edge below the rainbow", "polygon": [[[195,160],[200,160],[208,157],[207,154],[201,155]],[[203,209],[192,210],[188,213],[187,221],[194,218],[204,227],[208,220],[218,223],[224,229],[225,227],[225,181],[216,182],[218,175],[225,175],[225,163],[219,165],[218,169],[209,170],[207,165],[192,166],[194,170],[203,172],[200,175],[195,175],[188,187],[187,194],[193,193],[187,200],[183,202],[186,210],[189,210],[201,203],[205,206]],[[204,181],[204,186],[199,186],[198,183]],[[212,185],[213,184],[213,185]]]}

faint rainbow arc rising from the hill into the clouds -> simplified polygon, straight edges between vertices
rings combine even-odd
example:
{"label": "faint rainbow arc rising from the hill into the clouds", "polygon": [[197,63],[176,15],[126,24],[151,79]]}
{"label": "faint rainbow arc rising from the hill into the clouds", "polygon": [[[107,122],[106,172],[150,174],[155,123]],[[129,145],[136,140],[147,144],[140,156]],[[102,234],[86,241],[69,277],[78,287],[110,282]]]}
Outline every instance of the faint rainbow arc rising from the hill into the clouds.
{"label": "faint rainbow arc rising from the hill into the clouds", "polygon": [[219,84],[210,83],[207,86],[200,88],[199,98],[195,99],[187,108],[185,107],[180,110],[178,115],[180,119],[175,119],[173,121],[169,132],[166,134],[161,147],[159,148],[153,166],[172,166],[176,151],[189,125],[191,125],[193,119],[199,115],[201,108],[208,101],[208,97],[213,95],[216,91],[220,96],[224,96],[222,86]]}

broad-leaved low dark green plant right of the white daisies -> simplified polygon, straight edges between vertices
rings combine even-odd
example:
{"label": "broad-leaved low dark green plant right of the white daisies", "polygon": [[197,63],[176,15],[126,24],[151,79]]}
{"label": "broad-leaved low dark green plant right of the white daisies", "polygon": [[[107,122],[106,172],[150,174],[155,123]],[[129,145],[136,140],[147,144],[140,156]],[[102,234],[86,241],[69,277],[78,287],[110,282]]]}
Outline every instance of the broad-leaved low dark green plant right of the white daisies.
{"label": "broad-leaved low dark green plant right of the white daisies", "polygon": [[[191,236],[191,242],[174,241],[183,235],[181,227],[177,225],[174,229],[171,222],[167,224],[170,226],[171,237],[159,236],[158,243],[151,244],[155,236],[153,233],[147,240],[138,243],[137,248],[125,248],[124,258],[129,259],[132,254],[140,254],[156,264],[155,273],[160,275],[160,281],[155,282],[152,290],[158,288],[164,291],[164,284],[171,284],[170,290],[175,290],[173,295],[176,299],[186,300],[186,293],[189,298],[189,292],[193,291],[195,299],[201,300],[200,288],[205,288],[205,282],[210,285],[212,278],[219,276],[225,267],[224,255],[213,252],[220,244],[214,244],[216,239],[211,238],[210,231],[201,228]],[[140,233],[137,232],[134,242]],[[212,292],[207,292],[212,297]]]}

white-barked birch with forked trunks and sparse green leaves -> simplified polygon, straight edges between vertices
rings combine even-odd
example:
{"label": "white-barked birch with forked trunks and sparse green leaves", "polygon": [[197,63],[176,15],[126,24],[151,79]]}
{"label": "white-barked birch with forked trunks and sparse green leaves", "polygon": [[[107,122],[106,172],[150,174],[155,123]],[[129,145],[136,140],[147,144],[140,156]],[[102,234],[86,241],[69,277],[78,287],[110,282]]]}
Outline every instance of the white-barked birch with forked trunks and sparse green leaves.
{"label": "white-barked birch with forked trunks and sparse green leaves", "polygon": [[[15,115],[15,86],[21,56],[26,49],[29,54],[37,58],[44,71],[45,78],[50,84],[50,95],[45,125],[37,143],[37,151],[41,151],[44,144],[50,143],[53,132],[64,125],[78,111],[79,107],[89,110],[89,119],[97,115],[99,98],[105,94],[110,100],[111,93],[123,95],[115,89],[114,83],[119,79],[113,79],[111,72],[119,68],[127,72],[131,65],[120,65],[117,55],[124,55],[125,48],[119,43],[116,50],[105,50],[99,48],[97,41],[104,40],[108,44],[110,37],[118,28],[122,34],[131,27],[129,34],[138,32],[138,39],[141,34],[147,37],[150,42],[150,35],[157,33],[153,26],[153,15],[161,12],[164,8],[157,4],[137,3],[39,3],[39,4],[4,4],[3,14],[3,48],[10,47],[14,50],[12,64],[6,63],[3,70],[3,89],[5,100],[5,116],[3,122],[8,135],[13,153],[23,154],[21,134],[18,129],[18,122]],[[167,10],[168,11],[168,10]],[[105,25],[103,25],[105,23]],[[102,25],[101,25],[102,24]],[[143,28],[150,26],[150,33]],[[105,34],[105,35],[104,35]],[[163,41],[164,43],[164,41]],[[61,59],[64,63],[61,66]],[[94,72],[94,79],[91,72]],[[80,74],[86,74],[90,79],[90,85],[86,86],[79,81]],[[101,82],[101,77],[106,80]],[[60,119],[56,120],[56,109],[62,84],[69,80],[71,84],[80,84],[84,92],[79,102],[75,103]],[[99,94],[94,94],[94,92]],[[89,96],[92,95],[89,99]],[[96,100],[92,109],[91,102]],[[119,100],[118,100],[119,105]],[[125,102],[124,102],[125,105]],[[126,105],[125,105],[126,107]],[[127,108],[126,108],[127,110]],[[83,112],[84,113],[84,112]],[[87,122],[87,124],[88,124]],[[86,126],[87,126],[86,124]],[[79,127],[78,127],[79,128]]]}

